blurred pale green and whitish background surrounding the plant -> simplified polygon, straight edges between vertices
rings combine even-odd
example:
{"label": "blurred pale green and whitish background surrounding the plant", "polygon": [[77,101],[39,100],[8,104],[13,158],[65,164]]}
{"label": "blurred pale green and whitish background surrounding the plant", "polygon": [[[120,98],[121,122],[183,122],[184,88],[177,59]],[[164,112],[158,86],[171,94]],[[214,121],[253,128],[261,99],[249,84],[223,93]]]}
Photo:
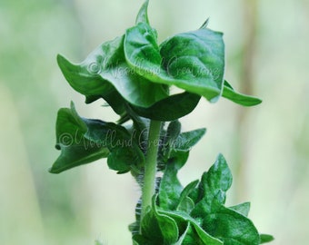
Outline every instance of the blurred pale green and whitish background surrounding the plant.
{"label": "blurred pale green and whitish background surrounding the plant", "polygon": [[[0,244],[131,244],[139,190],[105,160],[59,175],[47,172],[58,108],[71,100],[85,117],[115,120],[85,105],[57,67],[56,54],[82,61],[98,44],[135,24],[143,1],[0,0]],[[205,100],[182,119],[206,127],[180,173],[198,179],[219,152],[234,185],[231,204],[252,201],[250,217],[272,244],[304,244],[309,227],[309,2],[156,0],[149,17],[159,40],[209,27],[224,32],[226,79],[264,103],[244,108]]]}

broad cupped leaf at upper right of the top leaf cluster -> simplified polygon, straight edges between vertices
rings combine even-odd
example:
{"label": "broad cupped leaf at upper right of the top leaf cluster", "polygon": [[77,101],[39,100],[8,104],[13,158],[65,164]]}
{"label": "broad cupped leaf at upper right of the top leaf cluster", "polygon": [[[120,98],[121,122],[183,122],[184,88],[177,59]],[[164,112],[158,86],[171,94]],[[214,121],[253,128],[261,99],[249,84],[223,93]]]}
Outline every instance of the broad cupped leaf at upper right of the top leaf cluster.
{"label": "broad cupped leaf at upper right of the top leaf cluster", "polygon": [[215,102],[223,88],[224,42],[221,33],[199,29],[176,34],[160,45],[164,70],[174,85]]}

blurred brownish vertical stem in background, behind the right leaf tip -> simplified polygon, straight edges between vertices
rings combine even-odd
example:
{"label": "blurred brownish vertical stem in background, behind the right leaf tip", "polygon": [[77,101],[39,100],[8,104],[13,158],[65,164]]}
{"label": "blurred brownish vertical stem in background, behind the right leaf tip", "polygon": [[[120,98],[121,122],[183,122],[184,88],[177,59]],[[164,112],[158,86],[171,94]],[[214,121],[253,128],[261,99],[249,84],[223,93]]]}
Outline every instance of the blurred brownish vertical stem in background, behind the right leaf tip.
{"label": "blurred brownish vertical stem in background, behind the right leaf tip", "polygon": [[[254,93],[254,54],[257,36],[258,24],[258,1],[244,0],[243,1],[243,19],[244,19],[244,46],[241,57],[240,67],[240,91],[245,94]],[[248,135],[250,129],[246,123],[248,120],[248,110],[244,107],[239,107],[236,118],[237,133],[239,135],[238,152],[236,153],[235,170],[235,200],[244,201],[246,197],[247,186],[247,167],[250,164],[248,152]]]}

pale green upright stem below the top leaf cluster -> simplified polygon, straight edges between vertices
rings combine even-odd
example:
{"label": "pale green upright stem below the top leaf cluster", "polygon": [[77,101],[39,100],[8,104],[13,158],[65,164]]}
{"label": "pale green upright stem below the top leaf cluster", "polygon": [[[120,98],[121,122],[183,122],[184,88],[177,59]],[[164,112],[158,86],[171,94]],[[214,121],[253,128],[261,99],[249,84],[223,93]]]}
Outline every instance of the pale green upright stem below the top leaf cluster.
{"label": "pale green upright stem below the top leaf cluster", "polygon": [[141,219],[145,216],[148,206],[151,206],[152,197],[155,193],[155,173],[161,132],[161,122],[152,120],[149,126],[147,153],[145,159],[145,176],[142,190],[142,213]]}

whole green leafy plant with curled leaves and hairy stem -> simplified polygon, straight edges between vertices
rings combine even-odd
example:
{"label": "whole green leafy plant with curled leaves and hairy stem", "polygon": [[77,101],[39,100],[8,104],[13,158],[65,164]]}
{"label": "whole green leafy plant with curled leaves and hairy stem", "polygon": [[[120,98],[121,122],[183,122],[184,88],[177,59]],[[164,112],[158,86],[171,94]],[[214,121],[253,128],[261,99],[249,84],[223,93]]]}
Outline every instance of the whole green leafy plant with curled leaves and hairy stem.
{"label": "whole green leafy plant with curled leaves and hairy stem", "polygon": [[[142,189],[136,220],[129,226],[134,244],[261,244],[247,218],[250,204],[225,207],[232,174],[219,154],[200,181],[183,187],[177,172],[205,129],[181,132],[179,118],[191,113],[201,97],[211,103],[223,96],[251,106],[258,98],[237,93],[224,81],[222,34],[207,28],[176,34],[158,45],[149,25],[148,1],[136,25],[101,44],[81,64],[57,61],[68,83],[85,103],[104,99],[117,122],[85,119],[71,108],[59,110],[56,149],[61,154],[50,172],[107,158],[110,169],[131,172]],[[184,92],[170,94],[172,86]],[[157,177],[162,172],[162,177]]]}

